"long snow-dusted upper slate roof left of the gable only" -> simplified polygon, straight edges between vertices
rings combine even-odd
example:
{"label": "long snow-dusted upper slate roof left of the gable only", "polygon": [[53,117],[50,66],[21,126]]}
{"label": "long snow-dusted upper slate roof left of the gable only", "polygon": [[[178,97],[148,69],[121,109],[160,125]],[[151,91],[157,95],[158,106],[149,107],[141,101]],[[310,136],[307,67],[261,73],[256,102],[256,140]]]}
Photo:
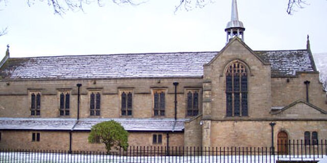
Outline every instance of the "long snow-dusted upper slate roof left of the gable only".
{"label": "long snow-dusted upper slate roof left of the gable only", "polygon": [[202,76],[217,52],[141,53],[9,59],[2,75],[29,78],[118,78]]}

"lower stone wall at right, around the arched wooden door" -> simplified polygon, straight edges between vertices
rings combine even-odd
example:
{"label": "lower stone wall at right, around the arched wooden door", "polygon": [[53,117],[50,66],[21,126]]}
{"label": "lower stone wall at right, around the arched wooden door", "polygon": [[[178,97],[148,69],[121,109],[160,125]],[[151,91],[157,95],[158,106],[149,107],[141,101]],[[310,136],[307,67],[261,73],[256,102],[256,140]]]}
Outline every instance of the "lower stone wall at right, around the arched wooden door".
{"label": "lower stone wall at right, around the arched wooden door", "polygon": [[[316,131],[319,140],[327,139],[327,121],[274,121],[274,146],[278,132],[290,140],[303,140],[305,131]],[[212,121],[212,147],[270,147],[271,121]]]}

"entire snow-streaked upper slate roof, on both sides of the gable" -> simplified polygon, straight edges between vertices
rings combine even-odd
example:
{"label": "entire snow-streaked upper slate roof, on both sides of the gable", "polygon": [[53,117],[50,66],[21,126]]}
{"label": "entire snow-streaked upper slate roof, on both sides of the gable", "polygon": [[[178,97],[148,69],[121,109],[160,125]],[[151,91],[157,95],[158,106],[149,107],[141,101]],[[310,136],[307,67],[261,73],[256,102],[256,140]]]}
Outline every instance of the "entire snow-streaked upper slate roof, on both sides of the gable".
{"label": "entire snow-streaked upper slate roof, on both sides of the gable", "polygon": [[[314,72],[305,50],[254,51],[271,64],[272,76]],[[201,77],[203,64],[219,52],[137,53],[120,55],[10,58],[0,69],[3,79],[76,79],[121,77]]]}

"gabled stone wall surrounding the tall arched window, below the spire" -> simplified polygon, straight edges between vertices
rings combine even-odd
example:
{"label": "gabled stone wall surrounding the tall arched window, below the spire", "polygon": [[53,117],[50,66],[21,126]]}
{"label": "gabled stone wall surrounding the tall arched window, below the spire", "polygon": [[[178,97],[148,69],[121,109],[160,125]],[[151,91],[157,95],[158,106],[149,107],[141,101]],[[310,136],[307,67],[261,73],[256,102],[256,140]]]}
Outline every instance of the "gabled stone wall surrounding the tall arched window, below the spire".
{"label": "gabled stone wall surrounding the tall arched window, below the spire", "polygon": [[[271,71],[270,65],[261,61],[246,45],[235,39],[204,66],[204,95],[211,104],[203,103],[203,117],[211,119],[226,118],[226,71],[232,61],[243,62],[248,73],[248,116],[243,118],[269,117],[271,108]],[[207,86],[207,82],[211,86]],[[211,90],[205,89],[211,88]],[[211,107],[211,108],[209,108]],[[230,117],[227,117],[227,119]],[[210,118],[209,118],[210,119]]]}

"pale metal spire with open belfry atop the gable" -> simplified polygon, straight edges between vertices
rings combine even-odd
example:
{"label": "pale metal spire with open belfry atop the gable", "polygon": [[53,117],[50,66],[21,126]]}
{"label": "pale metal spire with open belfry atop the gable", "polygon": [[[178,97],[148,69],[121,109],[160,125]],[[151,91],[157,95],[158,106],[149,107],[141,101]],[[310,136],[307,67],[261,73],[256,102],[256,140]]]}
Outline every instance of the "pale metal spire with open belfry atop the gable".
{"label": "pale metal spire with open belfry atop the gable", "polygon": [[244,31],[245,28],[243,26],[243,22],[239,20],[239,13],[237,10],[237,2],[236,0],[232,0],[231,2],[231,17],[230,21],[227,23],[225,32],[227,33],[227,42],[229,39],[237,36],[242,36],[242,41],[244,41]]}

